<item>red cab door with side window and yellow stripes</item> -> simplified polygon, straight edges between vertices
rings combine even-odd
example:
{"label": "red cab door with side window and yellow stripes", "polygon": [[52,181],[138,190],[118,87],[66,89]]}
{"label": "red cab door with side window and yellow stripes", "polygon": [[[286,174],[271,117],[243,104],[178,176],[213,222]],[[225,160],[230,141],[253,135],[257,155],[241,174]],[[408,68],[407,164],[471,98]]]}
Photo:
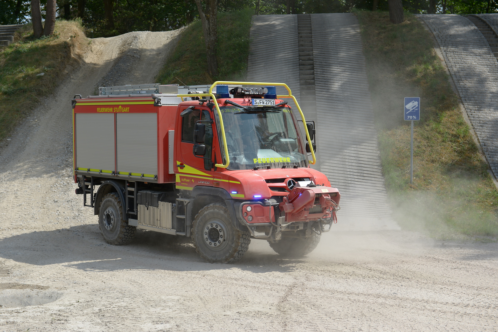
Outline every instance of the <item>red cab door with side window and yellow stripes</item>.
{"label": "red cab door with side window and yellow stripes", "polygon": [[[184,107],[183,109],[186,109]],[[180,112],[183,110],[180,110]],[[180,117],[179,135],[176,156],[176,188],[192,190],[195,186],[213,186],[213,123],[207,108],[195,108],[188,115]],[[196,123],[206,125],[204,143],[194,143],[194,128]],[[204,144],[206,154],[196,156],[194,145]]]}

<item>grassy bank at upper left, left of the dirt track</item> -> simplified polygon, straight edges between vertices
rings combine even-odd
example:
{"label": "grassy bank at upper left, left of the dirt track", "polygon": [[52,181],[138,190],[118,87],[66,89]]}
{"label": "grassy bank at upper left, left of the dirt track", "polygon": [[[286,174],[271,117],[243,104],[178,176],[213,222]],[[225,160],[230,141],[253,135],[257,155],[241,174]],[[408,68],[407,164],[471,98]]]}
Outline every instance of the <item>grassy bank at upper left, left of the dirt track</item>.
{"label": "grassy bank at upper left, left of the dirt track", "polygon": [[79,21],[57,21],[54,34],[39,39],[31,25],[16,33],[16,42],[0,48],[0,140],[54,90],[89,43]]}

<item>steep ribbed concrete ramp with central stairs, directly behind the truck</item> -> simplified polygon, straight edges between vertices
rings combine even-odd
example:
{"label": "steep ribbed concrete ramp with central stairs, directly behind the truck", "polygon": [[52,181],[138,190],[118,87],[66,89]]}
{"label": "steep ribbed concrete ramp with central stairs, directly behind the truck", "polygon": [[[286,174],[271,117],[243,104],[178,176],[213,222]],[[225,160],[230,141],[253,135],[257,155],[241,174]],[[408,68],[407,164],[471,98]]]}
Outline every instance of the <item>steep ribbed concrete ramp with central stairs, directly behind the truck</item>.
{"label": "steep ribbed concrete ramp with central stairs, directly behind the truck", "polygon": [[[291,26],[297,24],[296,16],[300,15],[253,17],[248,76],[256,81],[259,77],[270,81],[282,81],[285,77],[290,84],[295,84],[293,93],[298,97],[299,68],[308,71],[310,64],[299,66],[300,61],[309,61],[309,58],[299,57],[297,29]],[[306,17],[303,18],[299,22],[306,23]],[[390,219],[390,209],[386,204],[373,127],[372,102],[356,16],[334,13],[311,14],[310,18],[320,170],[328,176],[333,186],[339,188],[342,195],[342,210],[334,229],[397,229],[397,224]],[[282,34],[282,38],[279,36],[282,25],[277,22],[285,22],[289,29]],[[274,28],[277,25],[279,29]],[[303,29],[305,26],[300,31],[304,31]],[[263,33],[266,37],[259,37]],[[266,66],[261,70],[262,66],[254,66],[256,61],[270,63],[275,59],[268,49],[261,47],[261,43],[268,37],[278,41],[279,47],[286,50],[287,62]],[[304,46],[308,44],[306,42]],[[282,71],[285,68],[292,68],[292,72]],[[303,75],[301,81],[302,77]],[[298,101],[303,109],[308,106],[309,100],[301,101],[298,98]],[[309,109],[312,109],[313,105],[310,106]],[[306,119],[308,115],[310,119],[314,117],[312,113],[305,113]]]}

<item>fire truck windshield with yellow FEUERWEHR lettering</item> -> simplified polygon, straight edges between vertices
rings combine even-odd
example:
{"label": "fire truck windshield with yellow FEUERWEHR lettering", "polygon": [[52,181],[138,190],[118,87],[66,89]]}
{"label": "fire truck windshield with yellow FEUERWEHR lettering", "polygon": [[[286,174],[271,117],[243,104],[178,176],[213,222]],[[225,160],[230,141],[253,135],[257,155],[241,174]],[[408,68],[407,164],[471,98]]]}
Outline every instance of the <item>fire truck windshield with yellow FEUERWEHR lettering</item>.
{"label": "fire truck windshield with yellow FEUERWEHR lettering", "polygon": [[247,111],[232,106],[221,107],[220,111],[230,156],[229,169],[308,166],[290,108]]}

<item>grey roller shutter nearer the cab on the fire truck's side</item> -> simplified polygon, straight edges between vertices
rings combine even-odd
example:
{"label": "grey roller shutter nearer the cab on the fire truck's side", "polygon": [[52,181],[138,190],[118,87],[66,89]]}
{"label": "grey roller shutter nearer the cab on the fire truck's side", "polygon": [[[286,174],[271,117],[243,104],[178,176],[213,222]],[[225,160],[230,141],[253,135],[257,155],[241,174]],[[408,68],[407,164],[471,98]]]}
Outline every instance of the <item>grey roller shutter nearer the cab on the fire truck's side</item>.
{"label": "grey roller shutter nearer the cab on the fire truck's side", "polygon": [[157,175],[157,113],[116,115],[118,171]]}

